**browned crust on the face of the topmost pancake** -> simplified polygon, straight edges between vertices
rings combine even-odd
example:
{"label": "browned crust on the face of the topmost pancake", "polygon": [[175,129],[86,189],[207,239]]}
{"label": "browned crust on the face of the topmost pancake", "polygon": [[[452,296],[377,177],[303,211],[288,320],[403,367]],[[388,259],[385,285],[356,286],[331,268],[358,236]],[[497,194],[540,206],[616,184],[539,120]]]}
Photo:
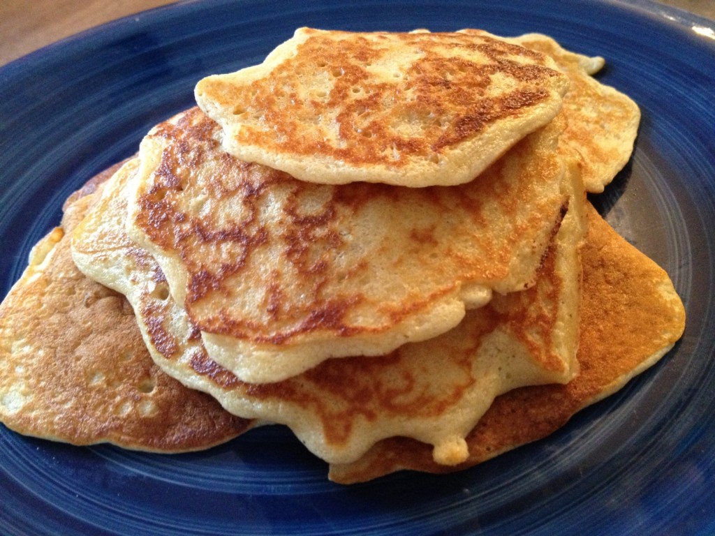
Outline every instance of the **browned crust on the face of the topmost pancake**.
{"label": "browned crust on the face of the topmost pancake", "polygon": [[[550,79],[562,76],[545,65],[543,54],[491,36],[405,33],[390,38],[418,47],[422,56],[400,73],[399,81],[389,84],[375,81],[369,72],[389,54],[386,34],[345,39],[347,32],[306,32],[309,39],[270,76],[242,86],[212,82],[207,89],[225,106],[237,103],[235,114],[255,116],[248,121],[250,126],[240,129],[237,144],[261,147],[268,154],[320,154],[355,165],[389,162],[400,169],[410,157],[437,157],[497,121],[523,116],[549,98]],[[451,55],[453,51],[462,54]],[[470,60],[469,55],[485,62]],[[523,64],[514,56],[533,63]],[[296,81],[320,73],[331,80],[330,92],[301,99]],[[490,96],[495,74],[508,77],[515,87]],[[202,84],[197,91],[204,91]],[[316,116],[335,121],[339,145],[327,141],[322,129],[312,128],[310,119]],[[392,123],[404,122],[403,118],[420,124],[419,135],[394,128]]]}

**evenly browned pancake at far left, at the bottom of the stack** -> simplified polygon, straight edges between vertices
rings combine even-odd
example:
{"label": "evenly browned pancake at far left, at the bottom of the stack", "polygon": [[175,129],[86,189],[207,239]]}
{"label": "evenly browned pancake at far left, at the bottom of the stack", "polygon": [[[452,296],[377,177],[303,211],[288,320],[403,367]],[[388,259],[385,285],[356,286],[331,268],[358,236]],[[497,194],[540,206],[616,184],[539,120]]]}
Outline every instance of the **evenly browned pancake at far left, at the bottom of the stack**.
{"label": "evenly browned pancake at far left, at the bottom of the stack", "polygon": [[0,422],[48,440],[152,452],[230,440],[250,423],[164,374],[127,300],[72,262],[69,233],[111,173],[70,197],[61,227],[36,244],[0,304]]}

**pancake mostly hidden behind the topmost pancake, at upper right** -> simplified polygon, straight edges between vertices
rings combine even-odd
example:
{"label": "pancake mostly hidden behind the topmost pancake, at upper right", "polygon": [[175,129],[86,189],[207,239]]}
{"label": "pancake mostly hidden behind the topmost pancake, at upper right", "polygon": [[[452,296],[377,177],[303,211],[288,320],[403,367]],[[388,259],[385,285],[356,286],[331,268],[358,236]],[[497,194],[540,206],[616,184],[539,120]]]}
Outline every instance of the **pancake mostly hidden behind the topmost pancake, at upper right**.
{"label": "pancake mostly hidden behind the topmost pancake, at upper right", "polygon": [[633,152],[641,110],[626,94],[591,76],[603,58],[563,49],[551,37],[526,34],[509,40],[551,56],[571,80],[560,114],[566,119],[560,149],[575,153],[581,163],[586,190],[601,193]]}

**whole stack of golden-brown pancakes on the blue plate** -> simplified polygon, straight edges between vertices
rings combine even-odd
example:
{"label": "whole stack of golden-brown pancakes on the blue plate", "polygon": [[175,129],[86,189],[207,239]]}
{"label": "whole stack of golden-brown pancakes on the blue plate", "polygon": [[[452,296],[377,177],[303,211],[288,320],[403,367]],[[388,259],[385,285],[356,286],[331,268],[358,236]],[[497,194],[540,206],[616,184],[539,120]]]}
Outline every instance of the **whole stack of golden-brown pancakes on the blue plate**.
{"label": "whole stack of golden-brown pancakes on the blue plate", "polygon": [[586,198],[640,118],[602,65],[538,34],[299,29],[202,79],[34,248],[0,419],[157,452],[287,425],[345,483],[548,435],[684,329]]}

